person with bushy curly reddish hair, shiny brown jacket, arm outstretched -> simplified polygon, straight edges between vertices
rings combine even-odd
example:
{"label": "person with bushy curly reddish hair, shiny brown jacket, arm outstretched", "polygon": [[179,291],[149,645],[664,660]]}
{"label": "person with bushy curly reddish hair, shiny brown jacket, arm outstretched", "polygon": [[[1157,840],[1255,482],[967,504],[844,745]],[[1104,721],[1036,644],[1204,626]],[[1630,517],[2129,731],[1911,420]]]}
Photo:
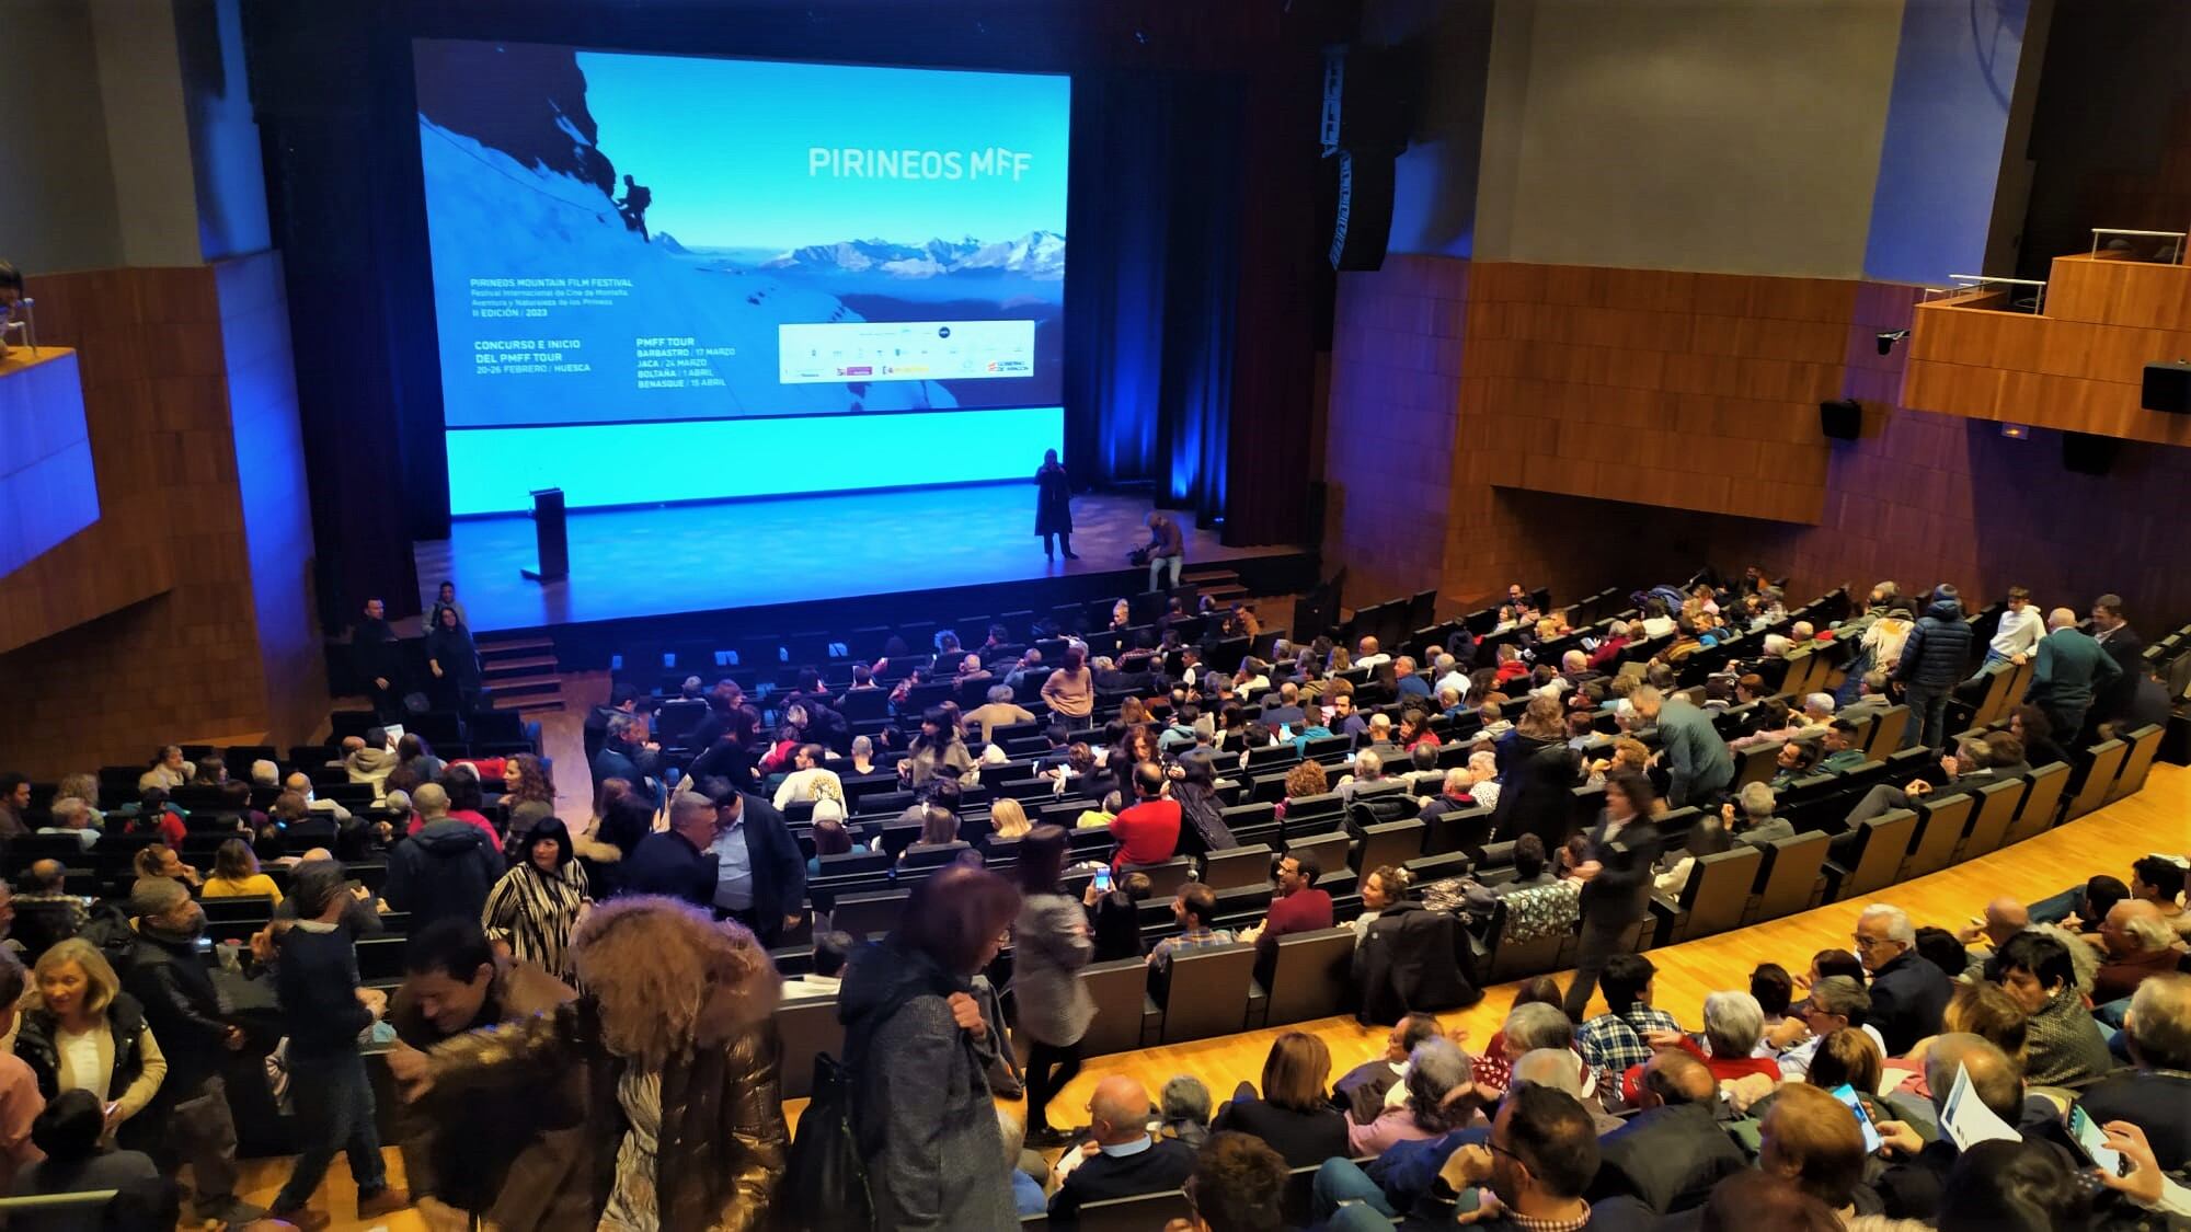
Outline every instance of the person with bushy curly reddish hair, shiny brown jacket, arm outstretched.
{"label": "person with bushy curly reddish hair, shiny brown jacket, arm outstretched", "polygon": [[[563,1184],[589,1190],[600,1232],[769,1228],[789,1140],[769,954],[745,927],[657,897],[594,908],[570,951],[576,1002],[392,1054],[410,1098],[427,1116],[489,1094],[526,1100],[576,1070],[594,1114]],[[511,1114],[524,1122],[519,1105]]]}

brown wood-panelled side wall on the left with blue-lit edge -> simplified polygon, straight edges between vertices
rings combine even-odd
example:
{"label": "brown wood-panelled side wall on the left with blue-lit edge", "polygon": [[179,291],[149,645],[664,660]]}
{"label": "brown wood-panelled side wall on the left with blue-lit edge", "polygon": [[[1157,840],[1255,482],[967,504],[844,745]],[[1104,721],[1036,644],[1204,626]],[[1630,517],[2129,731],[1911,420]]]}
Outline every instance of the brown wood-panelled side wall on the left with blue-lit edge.
{"label": "brown wood-panelled side wall on the left with blue-lit edge", "polygon": [[[274,270],[272,320],[283,320]],[[283,605],[309,623],[309,535],[263,506],[245,517],[239,482],[241,445],[254,489],[302,504],[302,458],[278,447],[280,395],[265,392],[287,384],[287,335],[278,357],[263,335],[254,342],[263,300],[223,309],[213,265],[53,274],[31,294],[39,335],[79,351],[105,515],[4,581],[70,614],[70,627],[0,655],[0,765],[57,776],[140,761],[164,741],[305,739],[324,719],[326,684],[305,666],[294,623],[274,653],[259,627]],[[267,531],[256,550],[248,528]],[[276,574],[274,559],[289,555]],[[254,563],[272,577],[254,577]]]}

